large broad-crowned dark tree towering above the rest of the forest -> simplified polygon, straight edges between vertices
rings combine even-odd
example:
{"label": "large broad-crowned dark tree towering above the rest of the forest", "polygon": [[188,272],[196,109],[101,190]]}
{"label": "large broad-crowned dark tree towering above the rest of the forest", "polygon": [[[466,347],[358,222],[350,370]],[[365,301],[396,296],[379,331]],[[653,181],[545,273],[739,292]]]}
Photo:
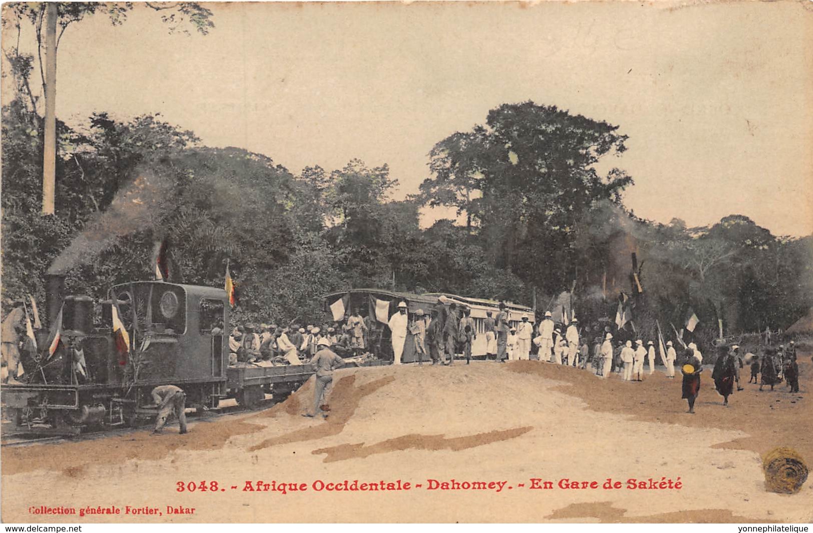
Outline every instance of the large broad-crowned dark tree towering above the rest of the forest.
{"label": "large broad-crowned dark tree towering above the rest of the forest", "polygon": [[485,126],[434,146],[424,203],[465,212],[495,267],[559,290],[575,275],[576,224],[598,202],[620,202],[632,184],[623,171],[600,176],[594,167],[626,150],[617,129],[556,106],[504,104]]}

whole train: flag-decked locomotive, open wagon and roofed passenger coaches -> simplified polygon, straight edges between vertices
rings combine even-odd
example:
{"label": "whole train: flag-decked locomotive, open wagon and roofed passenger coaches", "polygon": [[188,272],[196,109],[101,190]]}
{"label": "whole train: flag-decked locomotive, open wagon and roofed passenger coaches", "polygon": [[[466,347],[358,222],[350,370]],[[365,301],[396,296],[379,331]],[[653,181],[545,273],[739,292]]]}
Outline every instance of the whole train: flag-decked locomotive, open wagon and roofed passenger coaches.
{"label": "whole train: flag-decked locomotive, open wagon and roofed passenger coaches", "polygon": [[[112,287],[97,306],[90,297],[63,296],[63,276],[50,275],[46,283],[46,312],[51,322],[61,324],[60,340],[52,343],[50,353],[46,345],[54,338],[54,324],[50,335],[40,330],[40,349],[24,358],[22,383],[0,388],[4,415],[12,426],[3,428],[6,433],[66,435],[88,427],[135,426],[158,413],[150,392],[164,384],[183,388],[187,407],[196,410],[216,409],[226,398],[254,407],[267,393],[274,401],[284,399],[315,373],[308,363],[229,366],[230,306],[222,288],[134,281]],[[498,312],[496,301],[373,288],[327,294],[324,310],[337,321],[360,309],[375,318],[376,334],[367,349],[376,358],[363,366],[378,366],[391,361],[385,321],[397,312],[400,301],[406,302],[411,318],[418,309],[428,311],[452,301],[467,306],[477,333],[484,332],[486,313]],[[533,319],[528,307],[510,304],[508,311],[511,323],[523,314]],[[126,349],[116,325],[127,333]],[[411,336],[407,340],[403,362],[412,362],[414,343]],[[485,335],[476,338],[473,352],[485,354]]]}

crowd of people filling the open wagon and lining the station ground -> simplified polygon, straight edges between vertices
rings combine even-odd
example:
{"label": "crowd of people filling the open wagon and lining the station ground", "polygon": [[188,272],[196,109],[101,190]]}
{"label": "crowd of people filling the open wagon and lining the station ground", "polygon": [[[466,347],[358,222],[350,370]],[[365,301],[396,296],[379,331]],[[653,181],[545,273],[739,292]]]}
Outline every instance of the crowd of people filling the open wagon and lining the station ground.
{"label": "crowd of people filling the open wagon and lining the station ground", "polygon": [[[425,361],[450,366],[456,359],[465,359],[469,364],[474,340],[478,335],[485,335],[486,360],[537,360],[591,371],[602,379],[618,374],[624,381],[643,381],[646,375],[654,374],[658,360],[667,377],[673,379],[678,365],[683,378],[682,396],[689,404],[689,413],[694,412],[700,390],[703,354],[693,342],[684,344],[678,340],[679,354],[672,340],[657,347],[654,340],[614,340],[610,327],[603,327],[602,335],[591,339],[591,346],[589,335],[582,334],[578,319],[573,318],[567,324],[554,323],[552,314],[547,311],[539,323],[531,321],[528,314],[523,314],[520,321],[514,323],[505,303],[499,305],[497,313],[487,312],[478,332],[471,309],[454,301],[444,301],[443,297],[428,313],[417,309],[410,314],[406,302],[399,302],[398,311],[386,324],[362,316],[358,309],[354,309],[346,320],[321,326],[261,324],[259,330],[253,325],[236,327],[229,337],[229,360],[232,363],[277,360],[301,364],[319,360],[320,348],[324,348],[324,353],[347,358],[367,353],[376,344],[376,353],[380,353],[385,327],[389,329],[393,364],[396,365],[402,362],[407,340],[415,343],[413,352],[418,365]],[[598,324],[584,329],[587,332],[601,331]],[[624,332],[624,336],[627,334]],[[716,391],[724,398],[723,405],[728,405],[728,397],[735,387],[738,391],[743,390],[741,369],[746,366],[750,366],[751,371],[749,383],[756,384],[759,379],[759,390],[765,385],[773,390],[784,379],[790,392],[798,392],[798,363],[793,341],[787,348],[767,345],[761,356],[754,353],[743,355],[738,345],[720,346],[718,350],[711,379]],[[326,368],[335,364],[336,359],[332,356],[323,358]],[[324,387],[321,387],[315,398],[314,412],[319,411],[323,397]]]}

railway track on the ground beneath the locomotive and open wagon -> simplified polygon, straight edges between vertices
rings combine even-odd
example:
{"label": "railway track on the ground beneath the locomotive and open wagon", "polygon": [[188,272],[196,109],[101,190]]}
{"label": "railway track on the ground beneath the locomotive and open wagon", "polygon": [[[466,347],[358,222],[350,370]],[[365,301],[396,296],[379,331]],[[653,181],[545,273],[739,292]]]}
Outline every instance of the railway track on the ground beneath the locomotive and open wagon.
{"label": "railway track on the ground beneath the locomotive and open wagon", "polygon": [[[272,399],[270,394],[266,395],[265,399],[260,401],[258,405],[254,406],[254,408],[237,405],[237,402],[233,400],[226,400],[223,401],[221,406],[216,410],[206,410],[202,412],[195,411],[193,413],[188,413],[187,418],[191,418],[196,422],[208,423],[224,416],[246,414],[254,411],[270,409],[277,403],[278,402]],[[112,430],[102,429],[98,431],[85,431],[78,435],[33,436],[31,433],[16,432],[7,434],[6,431],[3,431],[0,446],[2,446],[2,448],[11,448],[17,446],[33,446],[36,444],[59,444],[63,442],[80,442],[82,440],[103,439],[109,436],[127,435],[128,433],[133,433],[133,431],[143,431],[145,428],[151,426],[151,422],[154,421],[150,421],[150,423],[145,422],[137,427],[120,427]]]}

